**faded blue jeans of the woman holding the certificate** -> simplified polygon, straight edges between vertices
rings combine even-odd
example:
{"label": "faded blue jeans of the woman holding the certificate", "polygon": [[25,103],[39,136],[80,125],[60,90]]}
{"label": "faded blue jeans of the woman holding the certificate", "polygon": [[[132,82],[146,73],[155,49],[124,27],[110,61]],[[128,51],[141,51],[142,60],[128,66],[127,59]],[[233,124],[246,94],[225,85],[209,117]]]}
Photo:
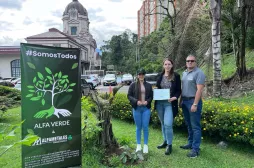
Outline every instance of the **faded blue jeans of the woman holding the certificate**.
{"label": "faded blue jeans of the woman holding the certificate", "polygon": [[173,141],[173,111],[172,105],[168,100],[158,100],[156,110],[161,122],[161,130],[164,141],[172,145]]}

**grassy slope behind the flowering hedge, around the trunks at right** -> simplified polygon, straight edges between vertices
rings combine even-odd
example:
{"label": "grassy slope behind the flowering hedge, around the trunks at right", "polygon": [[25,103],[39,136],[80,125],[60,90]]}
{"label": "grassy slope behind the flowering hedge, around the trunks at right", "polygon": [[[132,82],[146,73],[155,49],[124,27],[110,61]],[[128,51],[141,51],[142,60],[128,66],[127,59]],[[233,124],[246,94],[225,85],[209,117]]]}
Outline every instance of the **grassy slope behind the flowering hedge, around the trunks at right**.
{"label": "grassy slope behind the flowering hedge, around the trunks at right", "polygon": [[[246,67],[249,71],[248,77],[244,81],[239,81],[237,78],[230,79],[236,72],[235,58],[232,54],[222,56],[222,97],[224,98],[239,98],[242,96],[254,96],[254,51],[246,51]],[[208,68],[209,67],[209,68]],[[211,96],[212,93],[212,64],[208,66],[206,63],[200,67],[207,76],[207,87],[205,95]],[[230,80],[229,80],[230,79]]]}

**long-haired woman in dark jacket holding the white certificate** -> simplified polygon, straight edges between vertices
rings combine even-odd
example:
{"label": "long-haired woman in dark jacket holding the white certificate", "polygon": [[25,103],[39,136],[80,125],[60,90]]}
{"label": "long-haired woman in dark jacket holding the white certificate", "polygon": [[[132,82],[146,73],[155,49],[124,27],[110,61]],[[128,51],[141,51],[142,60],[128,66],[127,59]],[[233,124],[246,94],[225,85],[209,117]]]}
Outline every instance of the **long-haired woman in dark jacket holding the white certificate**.
{"label": "long-haired woman in dark jacket holding the white certificate", "polygon": [[181,95],[180,75],[174,72],[172,60],[167,58],[163,61],[163,71],[158,76],[156,87],[170,89],[170,99],[155,101],[164,139],[164,142],[157,148],[166,148],[165,155],[170,155],[172,152],[173,120],[178,113],[178,98]]}

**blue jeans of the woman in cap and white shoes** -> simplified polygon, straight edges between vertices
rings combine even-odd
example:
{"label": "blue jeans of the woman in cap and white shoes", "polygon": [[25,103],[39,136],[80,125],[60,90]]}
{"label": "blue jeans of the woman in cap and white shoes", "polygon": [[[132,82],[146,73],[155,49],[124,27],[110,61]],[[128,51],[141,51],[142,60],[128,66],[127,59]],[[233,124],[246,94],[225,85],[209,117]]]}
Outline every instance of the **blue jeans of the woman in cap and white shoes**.
{"label": "blue jeans of the woman in cap and white shoes", "polygon": [[141,144],[141,130],[143,129],[144,134],[144,144],[148,144],[148,136],[149,136],[149,121],[151,110],[146,106],[138,106],[136,110],[133,108],[133,118],[136,124],[136,141],[137,144]]}

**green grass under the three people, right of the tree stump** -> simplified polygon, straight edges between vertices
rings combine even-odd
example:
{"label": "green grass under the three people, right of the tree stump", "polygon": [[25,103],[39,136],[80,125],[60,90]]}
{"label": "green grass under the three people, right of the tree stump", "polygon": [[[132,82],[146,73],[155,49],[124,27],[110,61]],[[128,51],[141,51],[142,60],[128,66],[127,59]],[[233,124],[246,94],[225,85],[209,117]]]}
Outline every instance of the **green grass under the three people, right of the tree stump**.
{"label": "green grass under the three people, right of the tree stump", "polygon": [[[116,137],[127,137],[135,142],[135,126],[120,120],[113,121],[113,129]],[[187,158],[188,151],[179,148],[186,143],[187,135],[176,131],[173,140],[173,153],[170,156],[164,154],[164,150],[159,150],[156,146],[162,143],[162,135],[159,129],[150,128],[149,135],[149,158],[140,165],[133,167],[193,167],[193,168],[242,168],[254,167],[254,148],[241,146],[239,144],[229,144],[227,149],[220,149],[216,143],[209,138],[204,138],[201,145],[201,155],[198,158]],[[135,148],[135,143],[131,145]]]}

